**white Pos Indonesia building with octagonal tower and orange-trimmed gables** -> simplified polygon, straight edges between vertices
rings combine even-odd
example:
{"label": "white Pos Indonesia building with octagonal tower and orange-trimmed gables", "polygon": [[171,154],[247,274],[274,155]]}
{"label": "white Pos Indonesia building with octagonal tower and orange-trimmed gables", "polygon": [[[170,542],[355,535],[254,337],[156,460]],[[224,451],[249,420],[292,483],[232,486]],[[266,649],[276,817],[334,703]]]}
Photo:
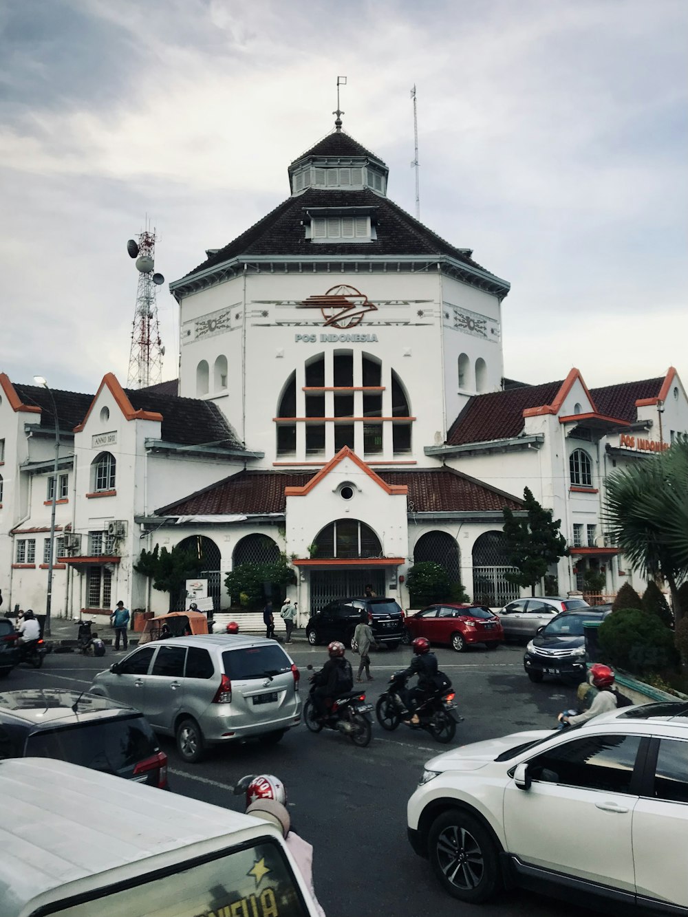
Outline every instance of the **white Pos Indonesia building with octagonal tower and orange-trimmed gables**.
{"label": "white Pos Indonesia building with octagonal tower and orange-trimmed gables", "polygon": [[[54,612],[166,609],[133,565],[180,543],[216,609],[227,571],[280,553],[302,613],[366,583],[406,605],[427,559],[498,605],[515,594],[502,509],[525,486],[571,546],[560,591],[591,567],[609,592],[632,578],[601,521],[605,476],[688,429],[678,375],[505,380],[508,283],[394,204],[387,172],[337,128],[290,165],[282,204],[172,283],[178,387],[108,373],[95,395],[53,392]],[[0,588],[40,609],[55,417],[45,389],[4,374],[0,399]]]}

